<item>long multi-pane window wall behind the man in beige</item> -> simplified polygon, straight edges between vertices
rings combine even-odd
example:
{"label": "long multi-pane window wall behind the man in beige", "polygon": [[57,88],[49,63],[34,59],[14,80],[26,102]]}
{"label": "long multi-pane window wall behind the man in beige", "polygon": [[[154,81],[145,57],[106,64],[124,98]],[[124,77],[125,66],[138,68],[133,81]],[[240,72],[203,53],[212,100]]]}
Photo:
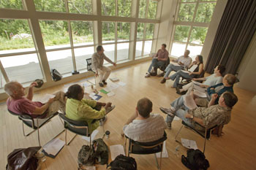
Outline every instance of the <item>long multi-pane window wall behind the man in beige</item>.
{"label": "long multi-pane window wall behind the man in beige", "polygon": [[[1,92],[3,85],[11,80],[23,85],[29,85],[35,79],[52,83],[50,69],[57,69],[64,78],[87,72],[86,59],[95,53],[97,45],[103,45],[105,55],[116,63],[147,57],[152,45],[156,44],[154,27],[160,23],[157,16],[162,1],[97,2],[0,1]],[[97,5],[101,6],[101,11],[97,10]],[[197,20],[202,20],[203,12],[198,12]],[[193,29],[191,43],[203,43],[203,39],[196,36],[198,29],[197,26]]]}

